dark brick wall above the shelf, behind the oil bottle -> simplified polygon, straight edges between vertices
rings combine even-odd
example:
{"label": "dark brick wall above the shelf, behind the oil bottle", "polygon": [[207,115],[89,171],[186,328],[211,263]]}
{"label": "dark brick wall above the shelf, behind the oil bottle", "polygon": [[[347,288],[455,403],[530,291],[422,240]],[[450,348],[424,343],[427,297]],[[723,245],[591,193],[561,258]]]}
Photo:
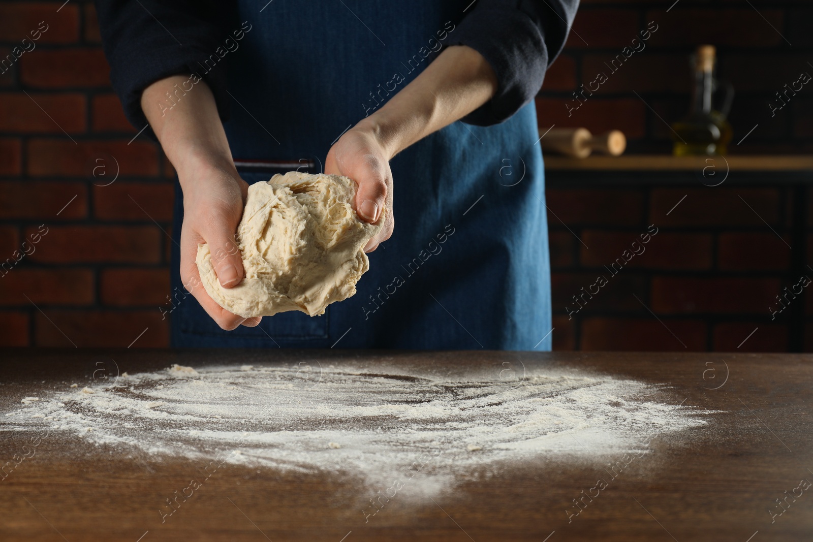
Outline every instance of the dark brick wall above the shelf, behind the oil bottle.
{"label": "dark brick wall above the shelf, behind the oil bottle", "polygon": [[[680,0],[671,7],[672,2],[581,0],[567,46],[537,98],[540,126],[584,126],[594,133],[620,129],[628,137],[628,152],[669,153],[672,132],[664,121],[679,120],[689,107],[689,54],[711,44],[717,47],[718,76],[736,93],[730,115],[733,144],[759,124],[731,152],[813,150],[813,82],[776,116],[768,107],[771,101],[778,105],[775,93],[801,72],[813,75],[810,2]],[[611,72],[604,62],[640,38],[650,21],[658,29],[646,48]],[[565,104],[578,104],[572,92],[589,85],[598,72],[608,80],[593,96],[585,94],[585,104],[568,116]]]}

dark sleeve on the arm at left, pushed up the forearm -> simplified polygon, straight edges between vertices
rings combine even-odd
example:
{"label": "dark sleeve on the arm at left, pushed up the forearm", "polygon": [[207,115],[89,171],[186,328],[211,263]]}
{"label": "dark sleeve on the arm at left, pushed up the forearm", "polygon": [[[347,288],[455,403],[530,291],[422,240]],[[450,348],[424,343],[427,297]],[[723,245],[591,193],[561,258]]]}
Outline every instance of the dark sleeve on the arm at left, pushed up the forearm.
{"label": "dark sleeve on the arm at left, pushed up the forearm", "polygon": [[[142,91],[173,75],[201,76],[215,95],[221,119],[228,117],[225,62],[217,51],[225,48],[225,21],[235,21],[223,8],[207,0],[95,3],[111,83],[135,128],[140,130],[147,124],[141,111]],[[235,29],[239,28],[237,24]],[[154,137],[151,128],[145,133]]]}

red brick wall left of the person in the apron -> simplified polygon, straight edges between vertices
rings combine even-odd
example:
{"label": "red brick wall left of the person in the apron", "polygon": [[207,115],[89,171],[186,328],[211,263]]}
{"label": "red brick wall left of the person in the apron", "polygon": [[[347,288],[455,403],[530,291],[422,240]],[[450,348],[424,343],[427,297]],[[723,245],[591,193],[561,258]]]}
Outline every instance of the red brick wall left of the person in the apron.
{"label": "red brick wall left of the person in the apron", "polygon": [[171,167],[131,141],[92,3],[0,2],[0,53],[41,21],[0,75],[0,262],[29,253],[0,277],[0,345],[167,345]]}

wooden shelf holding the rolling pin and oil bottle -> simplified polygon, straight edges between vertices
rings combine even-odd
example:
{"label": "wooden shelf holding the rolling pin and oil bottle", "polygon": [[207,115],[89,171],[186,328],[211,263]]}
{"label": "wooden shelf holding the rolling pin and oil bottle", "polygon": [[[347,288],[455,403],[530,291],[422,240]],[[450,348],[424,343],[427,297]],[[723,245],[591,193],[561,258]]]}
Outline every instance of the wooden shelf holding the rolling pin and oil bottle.
{"label": "wooden shelf holding the rolling pin and oil bottle", "polygon": [[734,156],[669,156],[665,154],[627,154],[624,156],[590,156],[568,158],[546,155],[545,169],[559,171],[702,171],[704,167],[730,171],[813,171],[813,156],[734,155]]}

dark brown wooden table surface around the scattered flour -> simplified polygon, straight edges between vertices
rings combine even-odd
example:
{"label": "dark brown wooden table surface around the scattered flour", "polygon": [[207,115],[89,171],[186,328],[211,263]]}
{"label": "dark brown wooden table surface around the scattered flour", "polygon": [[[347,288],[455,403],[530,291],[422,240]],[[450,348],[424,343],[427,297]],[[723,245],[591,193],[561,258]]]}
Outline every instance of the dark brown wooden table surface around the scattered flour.
{"label": "dark brown wooden table surface around the scattered flour", "polygon": [[[36,397],[54,382],[73,379],[81,385],[92,378],[93,359],[100,353],[7,350],[0,411],[18,408],[21,395]],[[290,364],[305,355],[284,350],[103,353],[115,358],[120,371],[130,373],[156,371],[172,363]],[[571,522],[565,510],[581,490],[592,488],[602,477],[602,462],[579,466],[541,460],[516,466],[497,479],[461,483],[437,502],[407,505],[406,500],[393,500],[367,524],[359,510],[348,505],[358,488],[346,479],[229,465],[207,480],[172,521],[162,524],[156,503],[185,486],[188,460],[156,462],[146,469],[80,440],[44,439],[34,457],[0,481],[0,540],[813,540],[813,488],[795,501],[788,497],[789,507],[773,522],[769,512],[779,510],[776,499],[794,489],[798,495],[801,479],[813,482],[811,355],[350,351],[318,355],[333,364],[376,362],[386,356],[415,374],[438,367],[496,370],[502,362],[515,362],[518,355],[531,369],[576,367],[672,384],[667,402],[676,405],[685,400],[687,405],[724,412],[678,439],[653,440],[654,453],[631,463]],[[710,369],[715,379],[704,374]],[[3,462],[19,452],[13,437],[0,432]]]}

